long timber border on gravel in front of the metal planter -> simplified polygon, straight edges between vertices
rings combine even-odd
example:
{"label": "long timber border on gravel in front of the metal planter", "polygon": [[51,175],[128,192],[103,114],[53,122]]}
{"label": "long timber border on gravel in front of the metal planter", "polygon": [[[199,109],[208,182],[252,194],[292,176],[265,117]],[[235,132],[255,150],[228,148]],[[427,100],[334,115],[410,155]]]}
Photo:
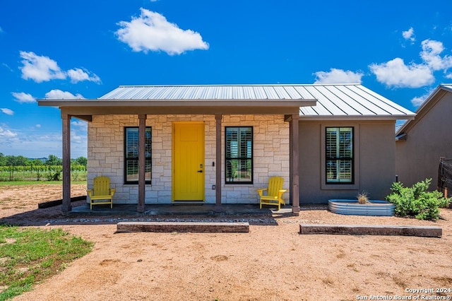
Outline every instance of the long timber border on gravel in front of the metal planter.
{"label": "long timber border on gravel in front of the metal planter", "polygon": [[399,225],[318,225],[300,224],[299,234],[339,235],[404,235],[420,237],[441,237],[443,230],[432,226]]}

